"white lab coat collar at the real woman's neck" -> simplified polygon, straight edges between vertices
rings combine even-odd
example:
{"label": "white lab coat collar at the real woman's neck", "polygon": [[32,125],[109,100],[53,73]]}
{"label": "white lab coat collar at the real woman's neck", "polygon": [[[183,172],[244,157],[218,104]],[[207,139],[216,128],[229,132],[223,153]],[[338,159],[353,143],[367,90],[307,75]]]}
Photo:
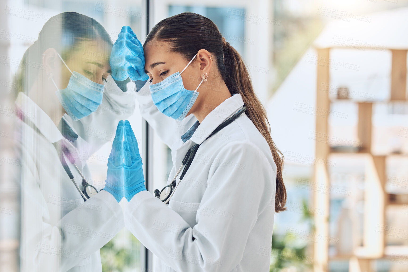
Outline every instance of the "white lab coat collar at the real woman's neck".
{"label": "white lab coat collar at the real woman's neck", "polygon": [[202,144],[217,126],[236,113],[243,105],[244,101],[239,93],[232,95],[204,118],[190,139],[196,144]]}

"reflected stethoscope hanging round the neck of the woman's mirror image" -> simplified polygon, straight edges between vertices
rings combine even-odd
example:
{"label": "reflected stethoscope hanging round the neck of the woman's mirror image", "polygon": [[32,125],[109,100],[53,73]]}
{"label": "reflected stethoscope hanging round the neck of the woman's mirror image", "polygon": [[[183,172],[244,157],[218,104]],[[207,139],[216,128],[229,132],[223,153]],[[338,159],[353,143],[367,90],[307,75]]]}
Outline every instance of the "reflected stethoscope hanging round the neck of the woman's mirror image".
{"label": "reflected stethoscope hanging round the neck of the woman's mirror image", "polygon": [[[45,136],[41,133],[41,131],[37,128],[37,126],[35,126],[35,124],[33,122],[31,122],[30,119],[28,118],[23,118],[24,115],[22,113],[22,111],[20,109],[18,109],[17,111],[17,115],[18,117],[24,122],[26,123],[28,126],[30,126],[31,128],[35,129],[35,131],[41,135],[42,137],[45,138]],[[55,145],[54,145],[55,147]],[[55,147],[55,149],[57,149],[58,152],[58,148]],[[60,161],[62,164],[62,167],[64,168],[65,172],[67,172],[68,177],[71,179],[71,181],[73,182],[73,184],[75,185],[75,188],[77,188],[78,192],[81,194],[81,196],[84,198],[84,201],[90,199],[91,197],[93,197],[94,195],[96,195],[98,193],[98,190],[96,190],[95,187],[93,187],[91,184],[89,184],[84,175],[82,175],[82,171],[79,170],[78,166],[75,164],[75,160],[72,158],[71,153],[69,153],[69,150],[67,147],[62,147],[61,148],[62,153],[58,152],[58,155],[60,157]],[[84,186],[84,190],[81,190],[78,187],[78,184],[76,184],[74,176],[72,175],[71,170],[69,169],[69,166],[67,164],[67,161],[65,161],[64,159],[64,155],[67,156],[67,158],[69,159],[69,161],[71,162],[71,164],[73,164],[73,166],[75,167],[75,169],[78,171],[78,173],[80,174],[80,176],[82,177],[82,186]]]}

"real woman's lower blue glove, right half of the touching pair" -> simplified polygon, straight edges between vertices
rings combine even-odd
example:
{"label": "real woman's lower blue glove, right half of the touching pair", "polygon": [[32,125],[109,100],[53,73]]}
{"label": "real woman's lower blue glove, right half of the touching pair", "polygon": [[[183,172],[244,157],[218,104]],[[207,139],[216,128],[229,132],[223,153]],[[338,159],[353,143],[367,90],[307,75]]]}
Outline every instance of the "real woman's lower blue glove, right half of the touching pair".
{"label": "real woman's lower blue glove, right half of the touching pair", "polygon": [[142,157],[140,157],[139,146],[129,121],[125,121],[123,141],[123,177],[125,198],[129,202],[138,192],[146,191],[142,168]]}

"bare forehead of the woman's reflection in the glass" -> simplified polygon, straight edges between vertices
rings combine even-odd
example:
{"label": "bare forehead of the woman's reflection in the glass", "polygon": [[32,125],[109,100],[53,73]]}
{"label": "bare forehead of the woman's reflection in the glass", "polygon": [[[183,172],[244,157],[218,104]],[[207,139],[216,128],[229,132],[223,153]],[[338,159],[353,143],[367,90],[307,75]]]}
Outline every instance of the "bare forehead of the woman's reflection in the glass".
{"label": "bare forehead of the woman's reflection in the glass", "polygon": [[109,64],[112,46],[101,40],[81,42],[77,51],[78,57],[85,62],[98,62],[103,65]]}

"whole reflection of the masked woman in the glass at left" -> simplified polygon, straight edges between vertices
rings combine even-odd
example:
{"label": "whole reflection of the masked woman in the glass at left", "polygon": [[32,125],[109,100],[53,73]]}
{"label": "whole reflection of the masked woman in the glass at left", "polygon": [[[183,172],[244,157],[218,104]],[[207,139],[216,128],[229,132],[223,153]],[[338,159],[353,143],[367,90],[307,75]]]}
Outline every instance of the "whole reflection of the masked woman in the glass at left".
{"label": "whole reflection of the masked woman in the glass at left", "polygon": [[111,48],[98,22],[66,12],[44,24],[22,58],[16,98],[16,140],[24,161],[22,271],[102,271],[99,249],[124,226],[109,190],[84,202],[60,161],[64,158],[80,190],[74,163],[92,185],[86,160],[133,111],[134,99],[115,83],[104,86],[112,81]]}

